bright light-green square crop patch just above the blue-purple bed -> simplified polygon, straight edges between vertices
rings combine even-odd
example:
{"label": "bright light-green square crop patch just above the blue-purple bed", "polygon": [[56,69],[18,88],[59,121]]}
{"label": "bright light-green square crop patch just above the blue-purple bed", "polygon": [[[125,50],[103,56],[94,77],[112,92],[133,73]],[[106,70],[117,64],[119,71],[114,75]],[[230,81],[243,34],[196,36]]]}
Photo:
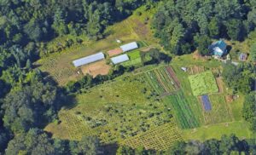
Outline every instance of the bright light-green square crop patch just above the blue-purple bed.
{"label": "bright light-green square crop patch just above the blue-purple bed", "polygon": [[193,95],[207,95],[218,92],[216,80],[211,71],[189,76]]}

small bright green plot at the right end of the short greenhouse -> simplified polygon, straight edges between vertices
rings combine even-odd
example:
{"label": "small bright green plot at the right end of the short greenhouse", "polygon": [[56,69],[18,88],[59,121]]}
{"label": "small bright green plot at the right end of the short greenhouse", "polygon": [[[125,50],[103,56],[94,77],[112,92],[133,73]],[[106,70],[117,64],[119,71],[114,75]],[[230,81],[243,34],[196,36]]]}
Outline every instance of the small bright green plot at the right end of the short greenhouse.
{"label": "small bright green plot at the right end of the short greenhouse", "polygon": [[130,60],[122,63],[123,66],[141,66],[142,65],[142,58],[141,58],[141,52],[138,50],[134,50],[131,52],[127,52],[127,55],[129,56]]}

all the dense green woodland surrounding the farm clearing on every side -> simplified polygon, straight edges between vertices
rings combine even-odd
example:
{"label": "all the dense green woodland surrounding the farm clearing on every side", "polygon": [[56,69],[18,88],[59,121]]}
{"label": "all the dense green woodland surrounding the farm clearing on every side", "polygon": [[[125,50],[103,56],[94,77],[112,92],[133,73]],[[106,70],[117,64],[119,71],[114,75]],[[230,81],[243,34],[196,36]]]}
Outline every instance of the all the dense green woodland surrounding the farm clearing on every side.
{"label": "all the dense green woodland surrounding the farm clearing on every side", "polygon": [[[104,151],[96,137],[84,137],[79,142],[61,141],[52,139],[42,129],[45,124],[57,120],[57,112],[63,106],[61,100],[68,100],[67,94],[93,87],[132,71],[132,68],[118,66],[108,77],[92,80],[87,76],[79,82],[69,83],[64,89],[34,68],[32,62],[38,60],[42,52],[54,52],[44,50],[44,44],[55,37],[83,34],[93,40],[101,39],[105,37],[103,32],[107,26],[125,19],[141,5],[154,2],[156,0],[1,0],[0,154],[96,154]],[[206,45],[211,38],[242,41],[255,26],[255,0],[166,1],[160,5],[153,23],[155,37],[159,37],[165,49],[175,55],[188,54],[196,48],[202,55],[207,55]],[[255,47],[256,42],[251,49],[253,61],[256,60]],[[154,57],[151,63],[163,60],[158,53],[150,54]],[[224,66],[225,82],[234,89],[234,93],[248,94],[243,117],[256,130],[253,71],[255,66],[248,64]],[[253,149],[255,152],[255,144],[253,147],[252,141],[240,141],[233,135],[221,141],[180,142],[170,149],[173,154],[189,152],[188,149],[201,153],[253,152]],[[121,146],[117,153],[155,152]]]}

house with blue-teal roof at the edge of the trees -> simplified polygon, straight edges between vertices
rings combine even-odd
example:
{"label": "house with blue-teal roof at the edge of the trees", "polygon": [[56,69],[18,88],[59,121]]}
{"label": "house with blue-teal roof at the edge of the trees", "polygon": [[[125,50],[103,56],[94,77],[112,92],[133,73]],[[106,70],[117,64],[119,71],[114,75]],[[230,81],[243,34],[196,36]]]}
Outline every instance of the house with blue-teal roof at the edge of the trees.
{"label": "house with blue-teal roof at the edge of the trees", "polygon": [[227,44],[224,43],[224,40],[219,40],[218,42],[212,43],[208,49],[210,50],[211,55],[219,58],[228,53]]}

